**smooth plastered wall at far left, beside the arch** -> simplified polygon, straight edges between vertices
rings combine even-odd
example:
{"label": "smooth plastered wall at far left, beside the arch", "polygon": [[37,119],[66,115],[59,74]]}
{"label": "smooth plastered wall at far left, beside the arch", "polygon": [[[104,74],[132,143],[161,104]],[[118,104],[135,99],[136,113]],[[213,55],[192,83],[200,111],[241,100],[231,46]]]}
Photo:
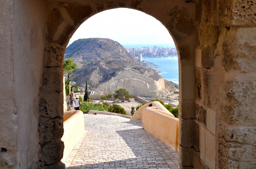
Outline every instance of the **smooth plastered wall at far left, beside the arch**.
{"label": "smooth plastered wall at far left, beside the arch", "polygon": [[36,168],[46,5],[7,0],[0,6],[0,168]]}

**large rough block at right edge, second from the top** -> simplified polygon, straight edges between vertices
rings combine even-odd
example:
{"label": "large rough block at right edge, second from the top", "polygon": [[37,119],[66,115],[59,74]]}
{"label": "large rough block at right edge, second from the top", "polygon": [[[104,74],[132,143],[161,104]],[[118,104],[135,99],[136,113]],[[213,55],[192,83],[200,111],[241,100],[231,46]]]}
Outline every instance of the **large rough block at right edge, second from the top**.
{"label": "large rough block at right edge, second from the top", "polygon": [[227,32],[222,60],[226,71],[256,71],[256,34],[252,32],[256,32],[255,27],[230,28]]}

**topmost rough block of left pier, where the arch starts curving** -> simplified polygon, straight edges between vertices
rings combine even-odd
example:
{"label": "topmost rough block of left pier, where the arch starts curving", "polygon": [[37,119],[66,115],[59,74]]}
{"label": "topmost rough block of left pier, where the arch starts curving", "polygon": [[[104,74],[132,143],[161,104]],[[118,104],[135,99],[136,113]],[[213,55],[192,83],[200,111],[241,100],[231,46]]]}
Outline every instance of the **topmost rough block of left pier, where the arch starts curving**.
{"label": "topmost rough block of left pier, where the arch starts curving", "polygon": [[44,67],[61,67],[63,65],[63,46],[47,43],[44,51]]}

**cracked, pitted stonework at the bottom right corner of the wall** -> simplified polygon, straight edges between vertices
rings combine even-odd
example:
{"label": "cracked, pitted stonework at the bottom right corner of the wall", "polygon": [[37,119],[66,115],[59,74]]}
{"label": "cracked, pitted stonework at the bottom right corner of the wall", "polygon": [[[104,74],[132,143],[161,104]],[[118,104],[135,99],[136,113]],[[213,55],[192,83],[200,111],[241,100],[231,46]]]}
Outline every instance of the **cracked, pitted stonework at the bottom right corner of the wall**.
{"label": "cracked, pitted stonework at the bottom right corner of the wall", "polygon": [[256,127],[220,123],[219,165],[221,168],[256,167]]}

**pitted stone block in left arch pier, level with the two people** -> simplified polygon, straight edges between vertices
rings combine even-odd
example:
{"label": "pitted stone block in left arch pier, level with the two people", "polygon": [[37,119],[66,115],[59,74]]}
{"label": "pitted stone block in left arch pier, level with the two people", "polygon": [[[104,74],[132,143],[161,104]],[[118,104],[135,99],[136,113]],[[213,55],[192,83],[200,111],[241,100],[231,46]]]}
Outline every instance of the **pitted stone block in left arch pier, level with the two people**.
{"label": "pitted stone block in left arch pier, level with the two people", "polygon": [[63,99],[60,93],[41,93],[39,101],[39,116],[63,117]]}

